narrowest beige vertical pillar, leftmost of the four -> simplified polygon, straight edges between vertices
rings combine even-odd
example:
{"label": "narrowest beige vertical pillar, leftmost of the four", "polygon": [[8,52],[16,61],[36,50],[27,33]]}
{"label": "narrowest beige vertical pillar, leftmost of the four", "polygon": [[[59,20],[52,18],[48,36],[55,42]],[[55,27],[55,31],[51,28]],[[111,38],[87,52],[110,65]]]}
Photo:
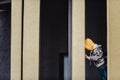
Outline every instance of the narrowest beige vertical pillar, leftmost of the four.
{"label": "narrowest beige vertical pillar, leftmost of the four", "polygon": [[11,3],[11,80],[21,80],[22,0]]}

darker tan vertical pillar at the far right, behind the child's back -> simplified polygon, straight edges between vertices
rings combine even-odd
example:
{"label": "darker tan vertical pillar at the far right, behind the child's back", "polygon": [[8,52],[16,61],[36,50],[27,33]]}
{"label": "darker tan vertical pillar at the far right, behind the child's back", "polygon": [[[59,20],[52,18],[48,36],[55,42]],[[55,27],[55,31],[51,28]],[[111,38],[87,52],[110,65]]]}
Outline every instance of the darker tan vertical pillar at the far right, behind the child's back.
{"label": "darker tan vertical pillar at the far right, behind the child's back", "polygon": [[120,0],[108,1],[108,77],[120,79]]}

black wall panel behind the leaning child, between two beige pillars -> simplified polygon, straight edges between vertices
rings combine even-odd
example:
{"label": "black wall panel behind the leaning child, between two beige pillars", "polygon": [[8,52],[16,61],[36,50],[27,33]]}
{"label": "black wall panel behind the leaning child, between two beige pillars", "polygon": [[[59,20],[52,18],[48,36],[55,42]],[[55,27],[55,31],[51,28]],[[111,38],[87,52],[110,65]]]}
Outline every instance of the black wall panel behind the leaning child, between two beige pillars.
{"label": "black wall panel behind the leaning child, between two beige pillars", "polygon": [[[101,44],[107,56],[106,0],[85,0],[85,36]],[[86,53],[88,53],[86,51]],[[100,80],[98,70],[86,60],[86,80]]]}

